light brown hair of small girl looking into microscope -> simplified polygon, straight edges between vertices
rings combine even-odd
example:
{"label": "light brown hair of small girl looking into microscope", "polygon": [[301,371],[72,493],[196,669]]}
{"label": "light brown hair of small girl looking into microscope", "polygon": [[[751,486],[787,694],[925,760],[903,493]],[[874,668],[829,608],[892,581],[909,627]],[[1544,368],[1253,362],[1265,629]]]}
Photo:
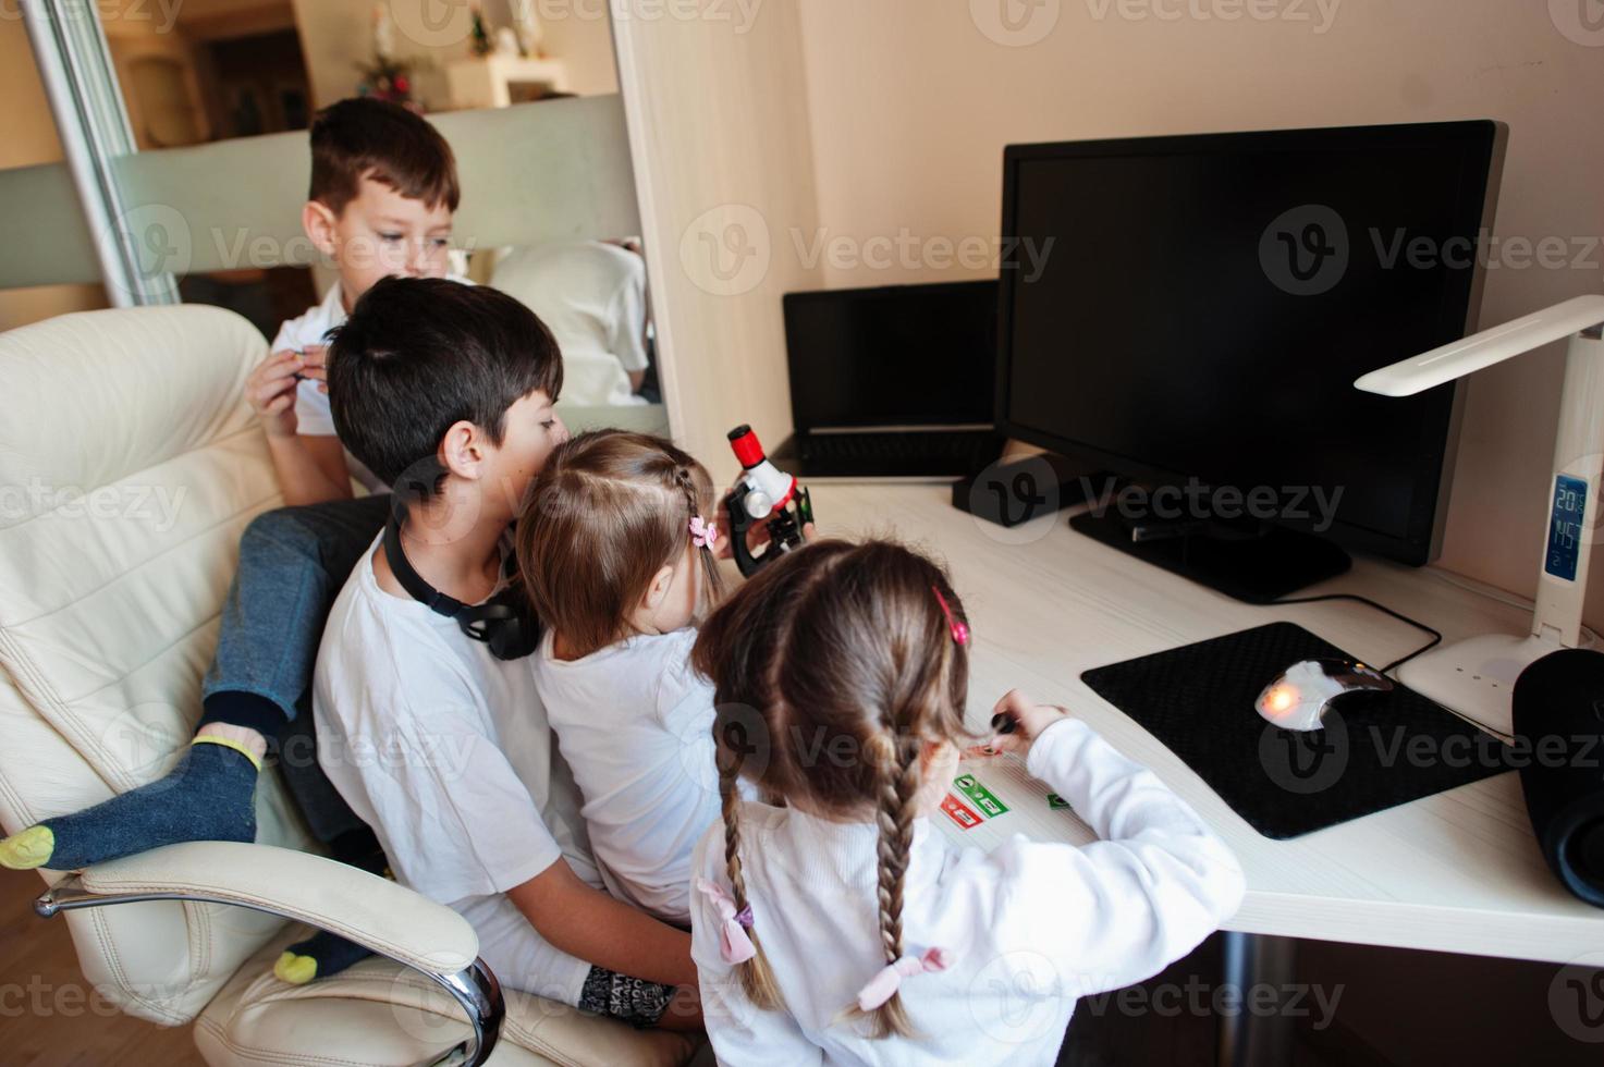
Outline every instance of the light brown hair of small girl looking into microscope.
{"label": "light brown hair of small girl looking into microscope", "polygon": [[[629,615],[666,563],[685,558],[690,520],[712,521],[712,478],[662,438],[593,430],[552,451],[515,534],[536,613],[574,656],[629,637]],[[703,602],[719,568],[703,554]]]}

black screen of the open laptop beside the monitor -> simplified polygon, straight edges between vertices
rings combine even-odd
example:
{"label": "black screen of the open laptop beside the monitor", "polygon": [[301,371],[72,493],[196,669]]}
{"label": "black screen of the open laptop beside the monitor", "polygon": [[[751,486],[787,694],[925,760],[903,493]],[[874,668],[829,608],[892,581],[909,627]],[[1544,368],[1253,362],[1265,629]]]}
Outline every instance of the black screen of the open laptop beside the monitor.
{"label": "black screen of the open laptop beside the monitor", "polygon": [[821,427],[991,425],[994,281],[791,292],[791,417]]}

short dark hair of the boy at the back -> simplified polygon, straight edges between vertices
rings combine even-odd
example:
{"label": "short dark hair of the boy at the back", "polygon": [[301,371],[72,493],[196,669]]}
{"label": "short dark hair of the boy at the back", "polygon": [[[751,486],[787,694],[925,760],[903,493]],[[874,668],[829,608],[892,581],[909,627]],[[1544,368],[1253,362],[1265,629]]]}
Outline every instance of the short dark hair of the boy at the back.
{"label": "short dark hair of the boy at the back", "polygon": [[454,212],[462,199],[457,159],[439,130],[401,104],[372,96],[337,101],[313,119],[306,199],[338,215],[356,199],[363,178],[427,207],[444,204]]}

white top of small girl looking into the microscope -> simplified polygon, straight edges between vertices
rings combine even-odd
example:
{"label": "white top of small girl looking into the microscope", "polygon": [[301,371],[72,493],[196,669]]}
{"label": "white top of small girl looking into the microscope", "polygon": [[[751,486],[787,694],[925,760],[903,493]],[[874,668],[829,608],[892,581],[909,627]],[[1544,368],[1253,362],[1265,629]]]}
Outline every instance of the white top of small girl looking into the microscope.
{"label": "white top of small girl looking into the microscope", "polygon": [[690,924],[691,850],[719,818],[714,692],[690,666],[695,629],[638,634],[582,659],[531,658],[534,685],[584,797],[608,891]]}

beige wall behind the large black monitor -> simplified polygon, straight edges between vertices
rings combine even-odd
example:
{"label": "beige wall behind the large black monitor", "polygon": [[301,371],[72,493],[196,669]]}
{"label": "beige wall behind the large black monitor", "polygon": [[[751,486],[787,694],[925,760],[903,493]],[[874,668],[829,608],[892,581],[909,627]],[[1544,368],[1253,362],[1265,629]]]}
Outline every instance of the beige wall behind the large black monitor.
{"label": "beige wall behind the large black monitor", "polygon": [[[818,217],[829,237],[845,239],[834,263],[823,258],[823,279],[868,286],[994,274],[983,258],[932,266],[942,257],[930,252],[942,245],[926,242],[996,236],[1007,143],[1471,117],[1511,127],[1495,236],[1559,236],[1583,250],[1604,234],[1604,124],[1590,111],[1604,98],[1604,47],[1567,39],[1551,6],[1566,8],[1541,0],[807,0]],[[1219,18],[1230,13],[1240,18]],[[1003,16],[1019,29],[1011,34]],[[865,241],[903,229],[911,237],[903,247],[917,241],[924,257],[887,257],[882,242],[877,262],[889,258],[887,266],[860,262],[860,252],[876,254]],[[807,236],[802,249],[816,244]],[[794,242],[780,247],[796,255]],[[1594,249],[1585,268],[1492,271],[1482,324],[1599,292],[1601,258]],[[1554,347],[1471,383],[1440,560],[1527,597],[1561,364]],[[1604,621],[1604,582],[1594,582],[1590,619]]]}

